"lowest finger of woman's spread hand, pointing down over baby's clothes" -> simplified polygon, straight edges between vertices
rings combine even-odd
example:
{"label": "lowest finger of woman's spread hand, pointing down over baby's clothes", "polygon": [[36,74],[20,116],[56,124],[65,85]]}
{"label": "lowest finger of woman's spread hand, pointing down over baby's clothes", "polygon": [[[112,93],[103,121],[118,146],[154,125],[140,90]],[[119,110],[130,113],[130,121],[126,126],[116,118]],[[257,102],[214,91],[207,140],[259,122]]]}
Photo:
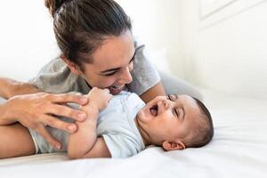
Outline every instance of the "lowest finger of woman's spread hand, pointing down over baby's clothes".
{"label": "lowest finger of woman's spread hand, pointing down over baby's clothes", "polygon": [[61,142],[58,142],[44,127],[44,125],[40,125],[36,130],[36,133],[40,134],[46,142],[51,144],[53,147],[61,150]]}

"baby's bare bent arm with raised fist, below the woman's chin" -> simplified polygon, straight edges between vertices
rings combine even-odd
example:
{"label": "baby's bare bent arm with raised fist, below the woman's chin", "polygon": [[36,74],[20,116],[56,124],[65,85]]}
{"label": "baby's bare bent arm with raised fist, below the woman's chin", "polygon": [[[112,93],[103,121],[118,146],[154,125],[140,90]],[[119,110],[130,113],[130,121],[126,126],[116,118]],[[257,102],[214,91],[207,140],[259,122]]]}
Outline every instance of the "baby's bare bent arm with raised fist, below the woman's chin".
{"label": "baby's bare bent arm with raised fist, below the woman's chin", "polygon": [[88,93],[89,103],[81,108],[87,118],[83,122],[77,121],[77,132],[69,135],[69,158],[110,157],[103,138],[97,138],[96,125],[100,110],[106,108],[111,96],[109,90],[98,88]]}

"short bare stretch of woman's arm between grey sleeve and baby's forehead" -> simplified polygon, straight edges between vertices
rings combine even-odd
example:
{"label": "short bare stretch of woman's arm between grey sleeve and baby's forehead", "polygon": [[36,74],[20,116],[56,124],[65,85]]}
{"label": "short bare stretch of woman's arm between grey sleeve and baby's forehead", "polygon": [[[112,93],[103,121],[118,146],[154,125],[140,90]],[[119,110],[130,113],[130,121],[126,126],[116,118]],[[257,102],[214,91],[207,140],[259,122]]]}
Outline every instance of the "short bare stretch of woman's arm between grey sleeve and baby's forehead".
{"label": "short bare stretch of woman's arm between grey sleeve and baby's forehead", "polygon": [[148,103],[149,101],[153,100],[156,96],[165,96],[166,92],[161,84],[161,82],[158,82],[157,85],[151,87],[147,92],[143,93],[140,97],[142,98],[142,101],[145,103]]}

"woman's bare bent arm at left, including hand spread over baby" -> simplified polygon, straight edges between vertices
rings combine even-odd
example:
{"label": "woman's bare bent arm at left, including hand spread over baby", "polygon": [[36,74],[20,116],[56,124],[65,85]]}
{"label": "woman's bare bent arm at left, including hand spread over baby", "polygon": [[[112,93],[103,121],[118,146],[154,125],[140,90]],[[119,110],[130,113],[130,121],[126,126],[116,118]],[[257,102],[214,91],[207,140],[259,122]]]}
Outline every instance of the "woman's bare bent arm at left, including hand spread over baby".
{"label": "woman's bare bent arm at left, including hand spread over baby", "polygon": [[53,147],[61,149],[61,142],[46,130],[45,125],[70,134],[76,132],[77,125],[63,122],[55,116],[84,120],[85,112],[70,109],[64,103],[85,105],[88,99],[76,94],[39,93],[40,91],[27,83],[0,77],[0,96],[9,99],[0,104],[0,125],[20,122],[42,135]]}

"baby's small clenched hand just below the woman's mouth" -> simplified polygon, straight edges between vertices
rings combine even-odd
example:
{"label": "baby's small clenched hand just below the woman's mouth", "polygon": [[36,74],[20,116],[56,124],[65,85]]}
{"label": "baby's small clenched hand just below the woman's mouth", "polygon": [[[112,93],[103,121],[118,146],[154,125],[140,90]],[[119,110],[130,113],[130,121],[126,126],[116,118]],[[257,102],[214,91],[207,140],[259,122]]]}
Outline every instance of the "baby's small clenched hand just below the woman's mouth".
{"label": "baby's small clenched hand just below the woman's mouth", "polygon": [[89,99],[89,105],[93,105],[101,111],[108,106],[109,100],[112,98],[112,94],[108,89],[100,89],[93,87],[93,89],[87,94]]}

